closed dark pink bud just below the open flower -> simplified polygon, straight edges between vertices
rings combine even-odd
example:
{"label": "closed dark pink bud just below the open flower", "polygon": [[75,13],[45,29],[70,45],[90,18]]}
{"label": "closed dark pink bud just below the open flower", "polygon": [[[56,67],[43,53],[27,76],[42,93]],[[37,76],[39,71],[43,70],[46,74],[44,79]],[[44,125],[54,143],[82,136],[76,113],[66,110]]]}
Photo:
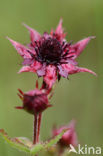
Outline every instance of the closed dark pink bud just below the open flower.
{"label": "closed dark pink bud just below the open flower", "polygon": [[16,107],[17,109],[24,109],[31,114],[39,114],[52,105],[49,104],[48,95],[50,90],[44,91],[44,89],[38,89],[23,93],[18,89],[18,96],[23,101],[23,106]]}

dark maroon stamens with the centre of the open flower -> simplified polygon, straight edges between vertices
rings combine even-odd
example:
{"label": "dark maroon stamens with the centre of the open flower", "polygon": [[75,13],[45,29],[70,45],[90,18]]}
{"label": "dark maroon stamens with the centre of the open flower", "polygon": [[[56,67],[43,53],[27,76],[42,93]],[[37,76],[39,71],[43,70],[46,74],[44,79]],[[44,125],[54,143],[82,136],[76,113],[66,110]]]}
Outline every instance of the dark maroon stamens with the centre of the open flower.
{"label": "dark maroon stamens with the centre of the open flower", "polygon": [[[41,41],[35,41],[35,59],[41,62],[42,64],[46,63],[46,65],[51,64],[55,66],[60,64],[67,64],[65,60],[72,57],[67,57],[69,49],[66,50],[66,48],[71,44],[71,42],[66,43],[65,41],[63,41],[62,43],[60,43],[55,35],[56,34],[54,33],[53,38],[45,38],[45,36],[43,36]],[[34,58],[32,54],[31,56]],[[64,59],[64,61],[62,61],[62,59]]]}

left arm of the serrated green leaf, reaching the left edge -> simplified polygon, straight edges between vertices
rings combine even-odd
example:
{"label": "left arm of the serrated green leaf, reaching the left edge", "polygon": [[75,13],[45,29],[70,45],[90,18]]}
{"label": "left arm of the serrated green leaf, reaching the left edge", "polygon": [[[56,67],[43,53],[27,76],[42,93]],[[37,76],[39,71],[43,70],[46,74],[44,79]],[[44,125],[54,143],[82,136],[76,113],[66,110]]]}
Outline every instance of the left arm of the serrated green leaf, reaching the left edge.
{"label": "left arm of the serrated green leaf, reaching the left edge", "polygon": [[3,129],[0,129],[0,135],[12,147],[14,147],[20,151],[30,153],[30,149],[26,145],[19,142],[19,140],[17,138],[10,138]]}

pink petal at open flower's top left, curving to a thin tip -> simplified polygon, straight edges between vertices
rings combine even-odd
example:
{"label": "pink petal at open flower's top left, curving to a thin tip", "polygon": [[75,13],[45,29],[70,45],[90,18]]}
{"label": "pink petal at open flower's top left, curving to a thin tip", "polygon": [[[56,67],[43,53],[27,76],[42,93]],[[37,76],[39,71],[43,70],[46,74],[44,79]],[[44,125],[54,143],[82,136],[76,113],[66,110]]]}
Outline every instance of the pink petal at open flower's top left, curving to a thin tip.
{"label": "pink petal at open flower's top left, curving to a thin tip", "polygon": [[30,28],[29,26],[27,26],[26,24],[23,23],[23,25],[29,30],[30,32],[30,39],[32,44],[34,44],[34,41],[38,41],[40,40],[41,35],[34,29]]}

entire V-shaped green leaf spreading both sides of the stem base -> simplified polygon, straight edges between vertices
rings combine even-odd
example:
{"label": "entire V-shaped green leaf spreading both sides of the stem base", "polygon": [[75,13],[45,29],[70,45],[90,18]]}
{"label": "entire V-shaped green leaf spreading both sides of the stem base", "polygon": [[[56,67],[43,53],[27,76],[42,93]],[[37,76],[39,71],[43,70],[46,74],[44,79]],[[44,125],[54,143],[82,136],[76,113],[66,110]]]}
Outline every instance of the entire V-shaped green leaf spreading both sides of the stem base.
{"label": "entire V-shaped green leaf spreading both sides of the stem base", "polygon": [[55,145],[61,139],[65,132],[66,130],[63,130],[59,135],[49,140],[48,142],[38,143],[36,145],[33,145],[33,143],[25,137],[10,138],[3,129],[0,129],[0,136],[2,136],[3,139],[12,147],[20,151],[36,155],[40,151],[48,152],[48,149],[49,151],[52,151],[53,145]]}

